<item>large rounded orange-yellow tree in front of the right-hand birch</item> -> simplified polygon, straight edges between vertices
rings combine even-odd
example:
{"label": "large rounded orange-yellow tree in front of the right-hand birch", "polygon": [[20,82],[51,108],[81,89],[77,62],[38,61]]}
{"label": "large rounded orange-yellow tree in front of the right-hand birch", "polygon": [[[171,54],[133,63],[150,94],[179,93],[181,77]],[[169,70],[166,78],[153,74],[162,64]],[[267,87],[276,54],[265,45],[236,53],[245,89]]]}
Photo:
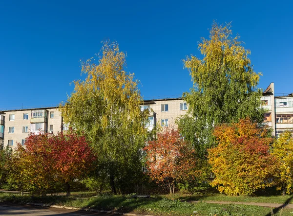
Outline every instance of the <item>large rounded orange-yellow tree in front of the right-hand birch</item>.
{"label": "large rounded orange-yellow tree in front of the right-hand birch", "polygon": [[249,118],[217,126],[214,135],[219,144],[209,149],[211,171],[216,176],[211,185],[227,195],[252,195],[272,186],[277,164],[269,152],[269,133]]}

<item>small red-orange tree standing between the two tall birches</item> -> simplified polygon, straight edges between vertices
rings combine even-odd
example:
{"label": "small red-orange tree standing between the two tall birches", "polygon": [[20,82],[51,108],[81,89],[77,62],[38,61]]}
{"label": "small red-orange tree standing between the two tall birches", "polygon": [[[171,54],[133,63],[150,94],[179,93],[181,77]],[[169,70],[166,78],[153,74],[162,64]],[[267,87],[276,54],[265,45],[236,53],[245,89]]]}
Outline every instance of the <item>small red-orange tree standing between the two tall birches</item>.
{"label": "small red-orange tree standing between the two tall birches", "polygon": [[170,194],[174,194],[176,181],[193,179],[196,175],[194,150],[188,149],[178,130],[172,127],[158,133],[157,139],[148,142],[144,150],[148,175],[167,185]]}

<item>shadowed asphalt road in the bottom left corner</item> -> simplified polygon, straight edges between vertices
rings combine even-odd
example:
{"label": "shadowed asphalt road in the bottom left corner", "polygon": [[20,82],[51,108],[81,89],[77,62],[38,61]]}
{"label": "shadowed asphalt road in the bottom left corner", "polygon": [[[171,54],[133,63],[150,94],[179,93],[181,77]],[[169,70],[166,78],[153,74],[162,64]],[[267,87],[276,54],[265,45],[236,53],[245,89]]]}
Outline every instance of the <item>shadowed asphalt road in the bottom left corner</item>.
{"label": "shadowed asphalt road in the bottom left corner", "polygon": [[117,216],[117,215],[0,202],[0,216]]}

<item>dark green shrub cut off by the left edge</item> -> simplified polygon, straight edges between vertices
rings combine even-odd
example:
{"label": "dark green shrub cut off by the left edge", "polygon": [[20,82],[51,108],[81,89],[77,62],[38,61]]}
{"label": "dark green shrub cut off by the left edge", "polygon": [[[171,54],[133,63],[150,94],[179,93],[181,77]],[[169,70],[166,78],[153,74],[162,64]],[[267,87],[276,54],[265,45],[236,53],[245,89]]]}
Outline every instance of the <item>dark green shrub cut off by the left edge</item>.
{"label": "dark green shrub cut off by the left edge", "polygon": [[9,146],[0,150],[0,188],[7,181],[10,164],[11,164],[12,149]]}

